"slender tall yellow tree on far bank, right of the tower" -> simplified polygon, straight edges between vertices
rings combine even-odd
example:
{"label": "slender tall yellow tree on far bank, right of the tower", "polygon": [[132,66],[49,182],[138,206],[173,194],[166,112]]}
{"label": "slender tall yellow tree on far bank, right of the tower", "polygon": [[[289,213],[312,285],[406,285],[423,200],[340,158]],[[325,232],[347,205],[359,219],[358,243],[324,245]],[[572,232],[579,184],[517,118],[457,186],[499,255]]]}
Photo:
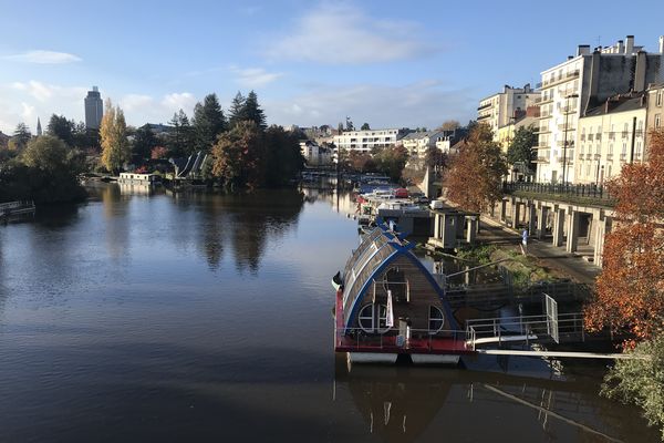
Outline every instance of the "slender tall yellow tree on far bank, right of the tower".
{"label": "slender tall yellow tree on far bank, right of the tower", "polygon": [[132,156],[126,134],[127,124],[124,112],[118,106],[114,107],[111,100],[106,100],[105,110],[100,126],[102,164],[108,172],[117,174]]}

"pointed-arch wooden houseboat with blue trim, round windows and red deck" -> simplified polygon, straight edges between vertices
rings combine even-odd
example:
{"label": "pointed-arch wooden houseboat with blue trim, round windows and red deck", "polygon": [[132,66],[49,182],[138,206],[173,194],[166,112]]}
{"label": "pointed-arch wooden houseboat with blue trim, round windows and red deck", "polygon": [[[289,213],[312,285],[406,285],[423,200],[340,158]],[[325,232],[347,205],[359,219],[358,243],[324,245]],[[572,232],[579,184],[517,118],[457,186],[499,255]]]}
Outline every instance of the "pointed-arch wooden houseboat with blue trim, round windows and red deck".
{"label": "pointed-arch wooden houseboat with blue trim, round windows and red deck", "polygon": [[445,292],[385,224],[364,236],[333,281],[334,350],[351,362],[457,364],[470,353]]}

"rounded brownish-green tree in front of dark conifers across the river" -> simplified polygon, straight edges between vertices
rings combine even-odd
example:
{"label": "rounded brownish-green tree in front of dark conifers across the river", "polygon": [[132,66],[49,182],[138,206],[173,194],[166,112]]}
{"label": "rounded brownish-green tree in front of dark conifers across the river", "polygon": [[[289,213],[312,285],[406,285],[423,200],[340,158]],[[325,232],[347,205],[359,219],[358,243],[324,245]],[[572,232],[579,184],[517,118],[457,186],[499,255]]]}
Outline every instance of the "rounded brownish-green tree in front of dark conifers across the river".
{"label": "rounded brownish-green tree in front of dark conifers across the river", "polygon": [[262,134],[255,122],[238,123],[212,147],[212,174],[231,189],[264,184]]}

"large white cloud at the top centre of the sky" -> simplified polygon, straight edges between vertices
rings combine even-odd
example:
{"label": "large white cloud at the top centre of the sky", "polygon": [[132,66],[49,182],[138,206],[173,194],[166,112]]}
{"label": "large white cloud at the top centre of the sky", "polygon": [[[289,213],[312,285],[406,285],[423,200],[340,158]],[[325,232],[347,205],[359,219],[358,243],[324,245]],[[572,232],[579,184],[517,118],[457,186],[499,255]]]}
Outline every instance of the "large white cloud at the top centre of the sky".
{"label": "large white cloud at the top centre of the sky", "polygon": [[268,45],[273,60],[364,64],[412,59],[435,50],[414,38],[424,25],[381,20],[349,4],[323,4],[301,17],[294,32]]}

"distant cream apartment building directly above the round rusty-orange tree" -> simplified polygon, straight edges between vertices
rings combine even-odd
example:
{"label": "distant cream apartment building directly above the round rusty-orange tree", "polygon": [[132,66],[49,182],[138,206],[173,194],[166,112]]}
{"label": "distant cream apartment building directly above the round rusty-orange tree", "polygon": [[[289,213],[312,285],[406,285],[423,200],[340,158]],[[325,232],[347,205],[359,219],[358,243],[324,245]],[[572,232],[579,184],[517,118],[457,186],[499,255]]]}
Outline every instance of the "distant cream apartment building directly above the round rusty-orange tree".
{"label": "distant cream apartment building directly above the round rusty-orange tree", "polygon": [[521,114],[528,106],[535,105],[539,96],[540,93],[532,90],[530,84],[523,87],[505,85],[502,92],[479,101],[477,122],[489,125],[497,142],[498,128],[509,124],[516,114]]}

